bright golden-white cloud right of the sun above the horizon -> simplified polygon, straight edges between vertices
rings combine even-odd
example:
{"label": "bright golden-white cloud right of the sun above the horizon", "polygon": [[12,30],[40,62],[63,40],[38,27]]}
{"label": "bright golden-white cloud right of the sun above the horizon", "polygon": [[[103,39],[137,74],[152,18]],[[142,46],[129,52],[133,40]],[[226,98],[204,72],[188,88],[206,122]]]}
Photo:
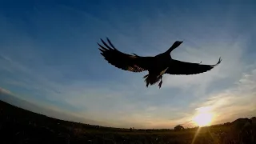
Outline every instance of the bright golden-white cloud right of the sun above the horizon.
{"label": "bright golden-white cloud right of the sun above the horizon", "polygon": [[220,123],[255,116],[255,100],[256,69],[243,74],[242,78],[229,89],[210,94],[209,98],[198,106],[199,108],[210,106],[211,112],[215,114],[214,123]]}

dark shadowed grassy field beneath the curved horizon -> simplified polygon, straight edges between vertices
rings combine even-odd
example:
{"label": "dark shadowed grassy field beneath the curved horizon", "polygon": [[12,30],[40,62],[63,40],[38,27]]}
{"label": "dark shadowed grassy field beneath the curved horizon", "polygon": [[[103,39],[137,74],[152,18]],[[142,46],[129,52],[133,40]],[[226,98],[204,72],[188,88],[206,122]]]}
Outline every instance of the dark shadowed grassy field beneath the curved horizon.
{"label": "dark shadowed grassy field beneath the curved horizon", "polygon": [[[197,134],[198,131],[198,134]],[[194,137],[196,138],[194,139]],[[201,129],[130,130],[67,122],[0,101],[0,144],[6,143],[254,143],[255,118]]]}

